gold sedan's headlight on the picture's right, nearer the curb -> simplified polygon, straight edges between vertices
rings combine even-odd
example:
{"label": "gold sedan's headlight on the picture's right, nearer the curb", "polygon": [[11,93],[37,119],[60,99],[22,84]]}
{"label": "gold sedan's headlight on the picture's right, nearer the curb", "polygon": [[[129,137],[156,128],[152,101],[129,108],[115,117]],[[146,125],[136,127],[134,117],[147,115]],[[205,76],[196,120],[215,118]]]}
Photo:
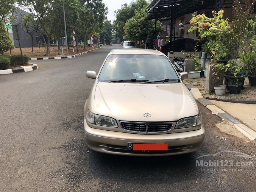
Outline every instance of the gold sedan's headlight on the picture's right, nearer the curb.
{"label": "gold sedan's headlight on the picture's right, nearer the curb", "polygon": [[195,127],[195,126],[201,125],[201,123],[202,123],[202,115],[201,113],[199,113],[199,115],[196,115],[193,117],[187,117],[179,120],[176,124],[175,129]]}

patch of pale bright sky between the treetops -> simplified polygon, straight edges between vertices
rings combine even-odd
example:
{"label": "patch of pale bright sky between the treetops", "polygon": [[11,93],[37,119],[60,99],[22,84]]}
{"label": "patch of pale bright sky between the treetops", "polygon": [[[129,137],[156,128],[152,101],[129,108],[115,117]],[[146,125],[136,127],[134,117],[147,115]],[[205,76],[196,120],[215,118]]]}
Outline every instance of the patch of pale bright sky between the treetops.
{"label": "patch of pale bright sky between the treetops", "polygon": [[107,14],[107,20],[111,20],[111,23],[113,23],[113,20],[115,20],[114,11],[120,8],[124,3],[130,4],[131,1],[132,0],[103,0],[103,3],[108,7],[109,13]]}

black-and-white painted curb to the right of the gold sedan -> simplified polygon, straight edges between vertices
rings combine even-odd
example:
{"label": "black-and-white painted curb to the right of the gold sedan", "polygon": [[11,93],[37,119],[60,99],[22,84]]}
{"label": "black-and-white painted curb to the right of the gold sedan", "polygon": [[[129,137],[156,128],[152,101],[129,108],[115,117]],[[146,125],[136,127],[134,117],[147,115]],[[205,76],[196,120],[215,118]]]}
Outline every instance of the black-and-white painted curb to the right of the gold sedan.
{"label": "black-and-white painted curb to the right of the gold sedan", "polygon": [[196,99],[199,103],[201,103],[203,106],[205,106],[207,109],[215,113],[218,117],[221,119],[228,121],[234,125],[234,127],[241,132],[243,135],[245,135],[249,140],[256,143],[256,132],[247,127],[246,125],[242,124],[240,121],[232,117],[230,114],[226,113],[225,111],[218,108],[216,105],[214,105],[212,102],[208,101],[207,99],[203,98],[201,92],[198,88],[196,88],[194,85],[191,85],[188,82],[183,81],[183,84],[188,88],[188,90],[193,95],[194,99]]}

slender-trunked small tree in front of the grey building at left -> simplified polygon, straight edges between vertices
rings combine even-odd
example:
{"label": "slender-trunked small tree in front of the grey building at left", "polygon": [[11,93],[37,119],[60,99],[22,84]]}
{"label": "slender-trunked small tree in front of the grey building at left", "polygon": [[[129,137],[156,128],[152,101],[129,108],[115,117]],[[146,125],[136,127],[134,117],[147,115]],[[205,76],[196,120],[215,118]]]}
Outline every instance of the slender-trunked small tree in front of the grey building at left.
{"label": "slender-trunked small tree in front of the grey building at left", "polygon": [[16,9],[17,12],[21,15],[21,20],[19,21],[21,26],[22,26],[22,30],[26,33],[28,33],[31,37],[31,52],[34,52],[34,33],[35,31],[38,29],[37,23],[35,21],[34,15],[32,15],[31,13],[27,13],[24,10],[21,10],[19,8]]}

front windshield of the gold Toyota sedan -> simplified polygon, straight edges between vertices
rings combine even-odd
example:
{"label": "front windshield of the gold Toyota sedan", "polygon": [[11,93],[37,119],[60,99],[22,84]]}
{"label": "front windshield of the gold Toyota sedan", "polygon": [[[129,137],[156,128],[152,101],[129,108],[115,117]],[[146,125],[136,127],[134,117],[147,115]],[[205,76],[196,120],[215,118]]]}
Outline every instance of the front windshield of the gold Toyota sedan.
{"label": "front windshield of the gold Toyota sedan", "polygon": [[[179,80],[179,77],[168,58],[162,55],[109,55],[100,71],[98,81],[110,82],[127,79],[141,83],[143,80],[149,82],[164,79]],[[173,81],[165,83],[173,83]]]}

